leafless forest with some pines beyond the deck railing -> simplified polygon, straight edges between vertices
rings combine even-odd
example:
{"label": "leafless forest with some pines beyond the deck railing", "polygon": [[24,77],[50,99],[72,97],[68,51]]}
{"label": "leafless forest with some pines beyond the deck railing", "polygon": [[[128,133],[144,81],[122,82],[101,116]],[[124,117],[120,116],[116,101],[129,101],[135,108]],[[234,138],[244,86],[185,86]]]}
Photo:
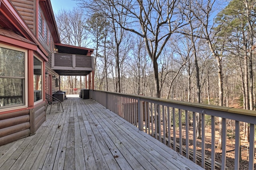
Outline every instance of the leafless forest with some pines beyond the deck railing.
{"label": "leafless forest with some pines beyond the deck railing", "polygon": [[58,31],[94,49],[96,90],[254,109],[255,0],[76,3],[56,12]]}

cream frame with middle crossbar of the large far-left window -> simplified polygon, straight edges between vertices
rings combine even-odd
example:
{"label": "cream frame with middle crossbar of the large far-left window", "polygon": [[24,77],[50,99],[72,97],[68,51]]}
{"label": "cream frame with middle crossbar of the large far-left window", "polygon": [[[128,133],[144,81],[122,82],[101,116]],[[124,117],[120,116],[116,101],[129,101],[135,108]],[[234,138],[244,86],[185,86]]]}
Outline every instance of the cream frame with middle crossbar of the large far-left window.
{"label": "cream frame with middle crossbar of the large far-left window", "polygon": [[[24,98],[24,103],[22,104],[22,106],[20,106],[21,104],[16,104],[16,105],[11,105],[11,106],[6,106],[3,108],[0,108],[0,112],[2,111],[8,111],[8,110],[14,110],[14,109],[20,109],[20,108],[26,108],[28,107],[28,50],[26,49],[21,49],[18,47],[13,47],[10,45],[4,45],[0,43],[0,47],[2,48],[6,48],[6,49],[10,49],[10,50],[15,50],[15,51],[20,51],[22,53],[24,53],[24,78],[20,78],[23,80],[24,83],[24,92],[22,94],[22,98]],[[13,76],[0,76],[0,78],[16,78]]]}

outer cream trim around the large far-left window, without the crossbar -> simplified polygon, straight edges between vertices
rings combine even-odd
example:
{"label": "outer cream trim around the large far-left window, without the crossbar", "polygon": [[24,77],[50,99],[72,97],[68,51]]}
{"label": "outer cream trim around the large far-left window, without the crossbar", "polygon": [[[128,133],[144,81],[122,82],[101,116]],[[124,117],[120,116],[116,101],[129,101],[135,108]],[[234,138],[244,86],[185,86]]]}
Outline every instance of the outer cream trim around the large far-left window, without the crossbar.
{"label": "outer cream trim around the large far-left window, without the crossbar", "polygon": [[0,44],[0,47],[6,48],[6,49],[11,49],[11,50],[16,50],[16,51],[20,51],[20,52],[24,52],[25,53],[25,104],[24,106],[14,106],[14,107],[8,107],[8,108],[4,108],[4,109],[0,109],[0,112],[2,111],[9,111],[9,110],[14,110],[14,109],[21,109],[21,108],[26,108],[28,107],[28,51],[24,50],[24,49],[20,49],[20,48],[16,48],[16,47],[12,47],[9,45],[4,45],[4,44]]}

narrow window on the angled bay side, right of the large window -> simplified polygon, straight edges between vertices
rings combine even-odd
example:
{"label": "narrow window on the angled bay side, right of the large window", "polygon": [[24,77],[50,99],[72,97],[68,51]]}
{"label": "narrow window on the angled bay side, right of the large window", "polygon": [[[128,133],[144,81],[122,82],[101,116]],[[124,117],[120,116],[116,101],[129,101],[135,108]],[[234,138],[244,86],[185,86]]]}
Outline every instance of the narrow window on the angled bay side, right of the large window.
{"label": "narrow window on the angled bay side, right of the large window", "polygon": [[42,99],[42,61],[34,57],[34,102]]}

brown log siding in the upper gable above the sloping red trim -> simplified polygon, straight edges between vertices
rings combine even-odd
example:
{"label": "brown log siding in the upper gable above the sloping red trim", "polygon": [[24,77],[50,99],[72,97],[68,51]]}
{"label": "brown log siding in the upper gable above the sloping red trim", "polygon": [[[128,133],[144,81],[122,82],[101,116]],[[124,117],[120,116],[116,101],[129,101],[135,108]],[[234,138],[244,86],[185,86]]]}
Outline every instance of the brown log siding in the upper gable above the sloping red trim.
{"label": "brown log siding in the upper gable above the sloping red trim", "polygon": [[16,10],[19,12],[20,16],[27,23],[28,27],[36,34],[36,23],[35,20],[35,7],[36,1],[34,0],[10,0]]}

